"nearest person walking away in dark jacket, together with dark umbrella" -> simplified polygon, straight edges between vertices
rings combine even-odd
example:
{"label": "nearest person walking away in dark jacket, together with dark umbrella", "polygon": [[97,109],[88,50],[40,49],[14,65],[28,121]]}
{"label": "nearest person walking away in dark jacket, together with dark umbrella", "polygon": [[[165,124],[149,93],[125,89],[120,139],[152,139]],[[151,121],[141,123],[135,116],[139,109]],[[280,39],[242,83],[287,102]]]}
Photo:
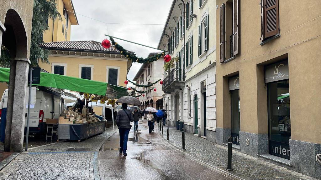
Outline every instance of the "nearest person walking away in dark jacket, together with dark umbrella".
{"label": "nearest person walking away in dark jacket, together with dark umbrella", "polygon": [[119,153],[123,153],[124,156],[127,156],[127,142],[128,134],[132,127],[130,122],[134,121],[132,111],[127,110],[127,103],[131,105],[141,106],[142,103],[132,96],[123,96],[120,97],[116,102],[122,103],[122,110],[117,113],[116,124],[118,126],[119,136],[120,136],[120,149]]}

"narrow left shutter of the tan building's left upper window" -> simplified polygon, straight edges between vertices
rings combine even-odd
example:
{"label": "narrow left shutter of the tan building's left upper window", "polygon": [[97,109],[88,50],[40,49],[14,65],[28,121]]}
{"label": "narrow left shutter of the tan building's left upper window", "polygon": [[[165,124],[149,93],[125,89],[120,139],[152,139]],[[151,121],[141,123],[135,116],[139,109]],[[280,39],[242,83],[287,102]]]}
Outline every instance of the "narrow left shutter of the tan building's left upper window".
{"label": "narrow left shutter of the tan building's left upper window", "polygon": [[220,62],[225,60],[225,4],[220,7]]}

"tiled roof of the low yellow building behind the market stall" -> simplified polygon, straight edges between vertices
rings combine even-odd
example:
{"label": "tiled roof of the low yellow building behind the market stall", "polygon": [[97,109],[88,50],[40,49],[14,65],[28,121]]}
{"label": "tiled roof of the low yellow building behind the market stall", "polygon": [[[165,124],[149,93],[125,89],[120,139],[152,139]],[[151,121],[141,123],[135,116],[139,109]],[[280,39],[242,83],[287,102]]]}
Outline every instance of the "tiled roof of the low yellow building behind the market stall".
{"label": "tiled roof of the low yellow building behind the market stall", "polygon": [[119,53],[111,45],[108,49],[102,47],[97,41],[62,41],[39,44],[40,47],[49,50],[69,50],[69,51],[85,51],[85,52],[101,52],[101,53]]}

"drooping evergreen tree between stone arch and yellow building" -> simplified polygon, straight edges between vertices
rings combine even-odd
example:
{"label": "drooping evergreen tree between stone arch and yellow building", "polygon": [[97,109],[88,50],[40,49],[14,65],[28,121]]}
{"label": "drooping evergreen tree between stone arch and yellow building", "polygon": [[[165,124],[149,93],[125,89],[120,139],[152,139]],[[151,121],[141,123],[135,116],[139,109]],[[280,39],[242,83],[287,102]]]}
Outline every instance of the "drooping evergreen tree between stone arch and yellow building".
{"label": "drooping evergreen tree between stone arch and yellow building", "polygon": [[39,47],[38,44],[43,42],[43,32],[49,29],[47,20],[60,20],[61,15],[56,8],[56,0],[34,0],[33,15],[32,15],[32,29],[31,29],[31,47],[30,47],[30,61],[32,67],[38,67],[37,60],[49,63],[49,50]]}

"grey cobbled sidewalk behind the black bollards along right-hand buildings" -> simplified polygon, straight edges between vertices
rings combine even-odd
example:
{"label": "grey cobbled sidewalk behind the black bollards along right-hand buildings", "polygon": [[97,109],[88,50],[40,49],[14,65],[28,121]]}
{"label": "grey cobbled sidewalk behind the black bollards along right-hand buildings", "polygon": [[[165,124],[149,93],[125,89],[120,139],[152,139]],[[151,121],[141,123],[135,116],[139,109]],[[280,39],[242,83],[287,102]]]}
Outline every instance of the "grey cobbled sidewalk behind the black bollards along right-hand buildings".
{"label": "grey cobbled sidewalk behind the black bollards along right-hand buildings", "polygon": [[[161,136],[167,139],[166,127],[164,127],[164,135]],[[169,142],[177,148],[182,149],[182,132],[176,130],[174,127],[169,127]],[[194,157],[213,166],[227,168],[227,147],[207,141],[190,133],[185,133],[185,146],[187,153]],[[316,178],[303,175],[235,150],[232,150],[232,168],[233,174],[251,180],[316,180]]]}

